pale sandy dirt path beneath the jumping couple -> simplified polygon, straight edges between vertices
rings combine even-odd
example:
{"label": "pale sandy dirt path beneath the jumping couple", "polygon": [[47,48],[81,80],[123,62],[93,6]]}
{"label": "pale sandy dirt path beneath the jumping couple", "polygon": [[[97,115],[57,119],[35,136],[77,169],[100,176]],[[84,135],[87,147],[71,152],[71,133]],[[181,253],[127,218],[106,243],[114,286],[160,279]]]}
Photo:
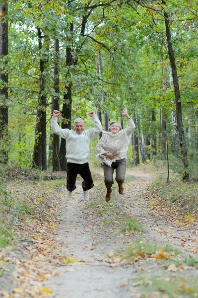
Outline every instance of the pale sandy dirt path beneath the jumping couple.
{"label": "pale sandy dirt path beneath the jumping couple", "polygon": [[[72,199],[65,201],[62,196],[60,238],[63,253],[68,264],[58,268],[58,274],[49,282],[49,288],[57,298],[138,298],[172,297],[165,290],[147,290],[154,286],[156,279],[173,284],[179,283],[185,276],[196,278],[198,270],[187,265],[164,264],[171,254],[175,258],[186,253],[192,257],[198,248],[197,226],[176,226],[173,216],[158,214],[155,205],[142,198],[152,177],[146,173],[129,172],[125,183],[125,193],[119,195],[116,185],[110,202],[105,202],[105,189],[101,183],[90,191],[90,201],[83,200],[81,186],[73,192]],[[132,178],[134,178],[133,181]],[[80,183],[78,182],[78,185]],[[156,201],[153,198],[153,201]],[[142,231],[126,229],[130,219],[142,224]],[[166,253],[161,248],[156,257],[145,257],[145,252],[136,253],[131,262],[116,252],[131,245],[143,243],[145,247],[160,245],[172,246]],[[146,242],[149,241],[149,242]],[[146,244],[147,243],[147,244]],[[184,245],[185,244],[185,245]],[[178,248],[180,252],[174,252]],[[74,262],[75,260],[75,262]],[[172,267],[170,267],[172,266]],[[162,282],[163,284],[163,282]],[[180,286],[180,285],[179,285]],[[187,288],[187,284],[183,287]],[[190,286],[188,286],[190,287]],[[193,286],[192,286],[193,287]],[[197,290],[192,293],[173,297],[198,297]],[[188,292],[188,291],[187,291]],[[145,296],[144,296],[145,295]],[[187,295],[187,296],[185,296]],[[190,295],[190,296],[189,296]]]}

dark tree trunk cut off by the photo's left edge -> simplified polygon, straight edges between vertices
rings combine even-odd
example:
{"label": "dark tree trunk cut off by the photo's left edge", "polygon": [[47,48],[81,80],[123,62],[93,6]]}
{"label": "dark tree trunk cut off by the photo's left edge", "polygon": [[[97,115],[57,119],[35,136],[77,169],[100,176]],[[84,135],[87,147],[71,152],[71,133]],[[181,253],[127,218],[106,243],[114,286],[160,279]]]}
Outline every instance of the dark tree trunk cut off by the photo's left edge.
{"label": "dark tree trunk cut off by the photo's left edge", "polygon": [[[1,1],[2,2],[2,1]],[[8,54],[8,24],[7,21],[4,21],[4,18],[7,16],[7,2],[3,1],[0,5],[0,57],[1,59],[6,59]],[[7,61],[4,61],[6,66]],[[3,69],[0,69],[0,80],[4,83],[4,87],[0,89],[0,97],[3,101],[3,105],[0,106],[0,140],[2,140],[3,148],[0,148],[0,162],[6,164],[8,161],[8,149],[7,149],[7,137],[8,137],[8,74],[2,72]]]}

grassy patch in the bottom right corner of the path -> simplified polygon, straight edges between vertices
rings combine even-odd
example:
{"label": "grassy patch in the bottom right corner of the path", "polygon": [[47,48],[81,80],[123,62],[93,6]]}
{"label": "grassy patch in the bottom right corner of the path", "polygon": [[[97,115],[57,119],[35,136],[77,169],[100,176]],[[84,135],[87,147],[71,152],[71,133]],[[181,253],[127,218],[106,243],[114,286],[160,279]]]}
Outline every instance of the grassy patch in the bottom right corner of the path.
{"label": "grassy patch in the bottom right corner of the path", "polygon": [[[198,297],[198,283],[197,279],[193,277],[179,278],[179,277],[152,277],[140,280],[140,285],[144,289],[145,296],[151,297],[152,293],[159,292],[167,294],[169,298],[175,298],[180,295],[181,298],[195,298]],[[156,297],[156,296],[155,296]],[[160,296],[159,296],[160,297]]]}

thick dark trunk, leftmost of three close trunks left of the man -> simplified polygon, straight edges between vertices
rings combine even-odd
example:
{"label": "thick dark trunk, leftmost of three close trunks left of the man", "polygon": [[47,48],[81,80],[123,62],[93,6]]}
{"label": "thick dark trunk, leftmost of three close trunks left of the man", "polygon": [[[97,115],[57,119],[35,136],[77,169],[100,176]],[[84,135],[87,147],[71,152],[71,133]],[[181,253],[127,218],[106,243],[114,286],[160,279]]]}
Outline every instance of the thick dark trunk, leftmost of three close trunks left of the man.
{"label": "thick dark trunk, leftmost of three close trunks left of the man", "polygon": [[[41,29],[37,28],[39,50],[42,49],[42,36]],[[49,51],[49,39],[45,38],[43,45],[46,51]],[[46,151],[46,108],[47,108],[47,95],[45,94],[45,69],[48,57],[44,60],[40,59],[40,91],[37,103],[36,115],[36,128],[35,128],[35,143],[33,154],[33,167],[38,167],[42,170],[47,170],[47,151]]]}

